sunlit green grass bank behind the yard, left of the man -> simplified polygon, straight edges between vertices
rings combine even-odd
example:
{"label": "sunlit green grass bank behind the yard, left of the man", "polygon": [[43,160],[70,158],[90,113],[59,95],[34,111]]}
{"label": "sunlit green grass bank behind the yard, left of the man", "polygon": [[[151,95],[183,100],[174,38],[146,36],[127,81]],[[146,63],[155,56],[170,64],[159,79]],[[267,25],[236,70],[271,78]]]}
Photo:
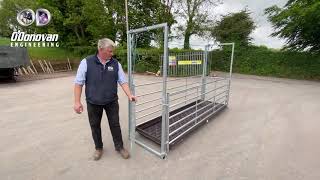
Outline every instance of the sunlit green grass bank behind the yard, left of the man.
{"label": "sunlit green grass bank behind the yard, left of the man", "polygon": [[[0,46],[10,46],[10,39],[0,37]],[[67,60],[79,59],[80,57],[68,52],[64,48],[43,48],[43,47],[28,47],[28,53],[31,59],[34,60]]]}

